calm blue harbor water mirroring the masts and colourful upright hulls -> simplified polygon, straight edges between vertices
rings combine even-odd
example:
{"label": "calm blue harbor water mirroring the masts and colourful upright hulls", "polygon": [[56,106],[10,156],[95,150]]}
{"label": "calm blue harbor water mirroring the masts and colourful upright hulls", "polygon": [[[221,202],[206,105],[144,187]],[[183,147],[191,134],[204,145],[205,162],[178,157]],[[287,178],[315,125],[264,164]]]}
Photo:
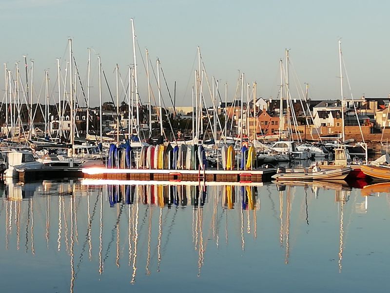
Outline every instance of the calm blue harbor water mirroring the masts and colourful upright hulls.
{"label": "calm blue harbor water mirroring the masts and colourful upright hulls", "polygon": [[387,186],[87,183],[0,186],[1,292],[387,288]]}

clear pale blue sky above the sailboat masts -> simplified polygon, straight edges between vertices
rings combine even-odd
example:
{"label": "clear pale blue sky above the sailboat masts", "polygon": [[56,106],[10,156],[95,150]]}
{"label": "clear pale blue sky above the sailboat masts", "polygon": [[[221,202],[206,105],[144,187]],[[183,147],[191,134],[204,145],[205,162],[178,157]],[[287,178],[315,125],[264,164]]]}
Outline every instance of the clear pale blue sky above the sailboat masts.
{"label": "clear pale blue sky above the sailboat masts", "polygon": [[[215,76],[221,85],[227,82],[230,98],[238,70],[245,73],[245,82],[257,82],[258,96],[275,97],[278,62],[289,48],[301,85],[311,84],[312,99],[338,99],[339,37],[354,97],[387,96],[389,11],[390,2],[384,0],[1,0],[0,62],[13,70],[14,63],[27,55],[35,60],[35,86],[40,87],[46,68],[54,85],[56,58],[68,59],[65,49],[72,37],[82,79],[87,48],[92,47],[115,91],[115,64],[125,76],[133,63],[130,18],[134,18],[142,53],[147,47],[153,61],[160,58],[171,91],[177,81],[178,105],[191,105],[198,45],[209,77]],[[139,52],[137,58],[140,95],[146,101]],[[96,54],[92,63],[92,104],[97,105]],[[108,99],[105,93],[103,100]],[[168,104],[165,92],[164,100]]]}

